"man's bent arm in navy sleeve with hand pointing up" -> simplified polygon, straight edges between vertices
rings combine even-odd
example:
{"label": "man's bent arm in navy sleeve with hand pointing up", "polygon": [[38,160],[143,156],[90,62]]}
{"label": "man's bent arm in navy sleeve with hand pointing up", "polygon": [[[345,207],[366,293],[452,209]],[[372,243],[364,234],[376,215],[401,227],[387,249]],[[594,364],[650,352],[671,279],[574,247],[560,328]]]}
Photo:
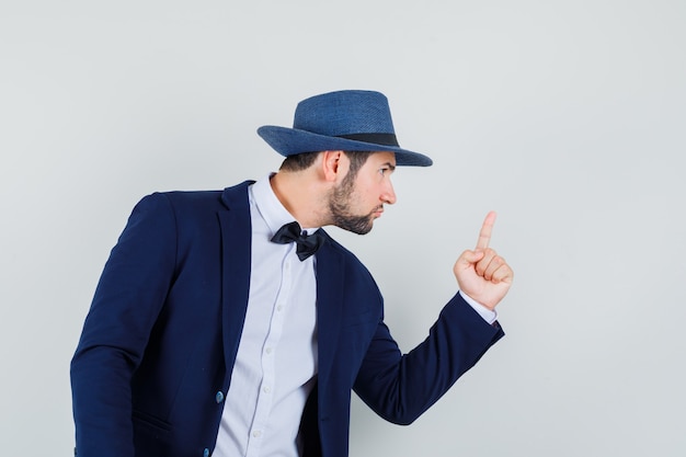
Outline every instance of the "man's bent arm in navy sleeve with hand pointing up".
{"label": "man's bent arm in navy sleeve with hand pointing up", "polygon": [[[465,251],[454,272],[461,293],[493,310],[502,300],[513,273],[489,248],[495,213],[489,213],[475,251]],[[355,381],[355,391],[388,421],[409,424],[419,418],[504,333],[488,323],[461,293],[444,307],[430,334],[402,355],[388,328],[380,322]]]}

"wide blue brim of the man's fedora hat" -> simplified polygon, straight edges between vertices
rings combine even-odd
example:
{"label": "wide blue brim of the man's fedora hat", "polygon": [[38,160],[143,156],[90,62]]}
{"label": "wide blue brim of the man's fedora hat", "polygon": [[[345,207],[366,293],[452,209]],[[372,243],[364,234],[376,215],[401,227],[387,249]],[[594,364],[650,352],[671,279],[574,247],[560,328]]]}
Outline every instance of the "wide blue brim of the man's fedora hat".
{"label": "wide blue brim of the man's fedora hat", "polygon": [[354,139],[318,135],[297,128],[265,125],[258,128],[262,137],[276,152],[284,157],[302,152],[319,151],[389,151],[396,155],[396,164],[401,167],[430,167],[433,164],[427,156],[413,152],[397,146],[378,145]]}

